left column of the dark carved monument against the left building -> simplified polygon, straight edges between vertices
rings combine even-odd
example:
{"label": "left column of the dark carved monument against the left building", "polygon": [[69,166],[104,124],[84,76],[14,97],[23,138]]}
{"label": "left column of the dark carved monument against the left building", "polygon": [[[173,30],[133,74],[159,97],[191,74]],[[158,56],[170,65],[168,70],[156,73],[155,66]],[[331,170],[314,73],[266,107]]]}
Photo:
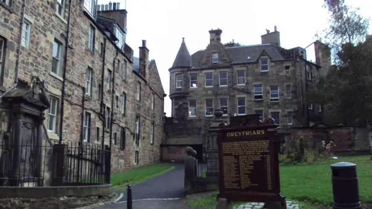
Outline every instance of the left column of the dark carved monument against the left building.
{"label": "left column of the dark carved monument against the left building", "polygon": [[21,147],[22,116],[23,116],[23,112],[18,111],[13,117],[13,126],[12,126],[13,140],[10,143],[10,147],[11,147],[10,176],[9,176],[10,186],[20,186],[20,182],[22,178],[20,176],[20,159],[21,159],[21,152],[22,152],[22,147]]}

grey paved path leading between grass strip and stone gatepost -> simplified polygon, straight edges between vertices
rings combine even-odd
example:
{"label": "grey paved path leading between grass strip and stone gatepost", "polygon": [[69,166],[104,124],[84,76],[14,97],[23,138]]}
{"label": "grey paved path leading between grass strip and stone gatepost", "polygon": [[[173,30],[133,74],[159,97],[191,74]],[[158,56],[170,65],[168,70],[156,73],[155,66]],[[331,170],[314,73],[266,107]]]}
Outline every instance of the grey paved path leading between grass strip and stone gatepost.
{"label": "grey paved path leading between grass strip and stone gatepost", "polygon": [[[133,209],[187,209],[183,198],[183,164],[163,175],[148,179],[132,187]],[[105,205],[102,209],[126,209],[126,191],[116,203]]]}

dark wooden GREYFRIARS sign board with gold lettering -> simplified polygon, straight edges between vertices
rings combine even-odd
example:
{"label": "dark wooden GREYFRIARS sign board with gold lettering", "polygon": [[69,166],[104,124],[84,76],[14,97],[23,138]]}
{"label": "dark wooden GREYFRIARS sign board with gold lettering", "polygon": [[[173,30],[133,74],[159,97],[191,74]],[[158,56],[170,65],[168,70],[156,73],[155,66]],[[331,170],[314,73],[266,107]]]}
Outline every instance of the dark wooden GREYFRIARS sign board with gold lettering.
{"label": "dark wooden GREYFRIARS sign board with gold lettering", "polygon": [[237,201],[285,204],[280,193],[278,125],[259,115],[230,117],[218,132],[219,195]]}

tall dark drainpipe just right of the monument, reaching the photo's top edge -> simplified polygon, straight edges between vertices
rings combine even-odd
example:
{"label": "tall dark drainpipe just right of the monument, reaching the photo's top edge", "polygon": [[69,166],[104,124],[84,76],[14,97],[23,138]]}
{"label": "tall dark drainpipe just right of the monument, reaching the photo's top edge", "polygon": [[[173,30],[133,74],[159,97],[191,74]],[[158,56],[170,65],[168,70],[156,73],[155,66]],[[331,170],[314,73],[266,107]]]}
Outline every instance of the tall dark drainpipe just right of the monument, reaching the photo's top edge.
{"label": "tall dark drainpipe just right of the monument, reaching the photo's top edge", "polygon": [[59,143],[62,143],[62,129],[63,129],[63,116],[64,116],[64,99],[65,99],[65,86],[66,86],[66,69],[67,69],[67,52],[68,44],[70,37],[70,18],[71,18],[71,9],[72,9],[72,0],[68,1],[68,19],[67,19],[67,36],[65,37],[66,46],[65,46],[65,59],[63,60],[63,82],[62,82],[62,97],[61,97],[61,117],[60,117],[60,140]]}

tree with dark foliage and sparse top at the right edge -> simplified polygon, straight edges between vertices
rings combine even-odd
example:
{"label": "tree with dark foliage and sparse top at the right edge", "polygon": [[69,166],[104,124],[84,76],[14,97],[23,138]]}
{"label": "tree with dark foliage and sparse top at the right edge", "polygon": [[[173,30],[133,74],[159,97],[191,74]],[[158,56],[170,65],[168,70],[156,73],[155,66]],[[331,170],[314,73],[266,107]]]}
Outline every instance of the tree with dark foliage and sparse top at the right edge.
{"label": "tree with dark foliage and sparse top at the right edge", "polygon": [[333,50],[335,64],[318,90],[308,99],[326,105],[331,123],[366,125],[372,153],[372,36],[367,35],[369,20],[344,0],[325,0],[330,11],[325,43]]}

